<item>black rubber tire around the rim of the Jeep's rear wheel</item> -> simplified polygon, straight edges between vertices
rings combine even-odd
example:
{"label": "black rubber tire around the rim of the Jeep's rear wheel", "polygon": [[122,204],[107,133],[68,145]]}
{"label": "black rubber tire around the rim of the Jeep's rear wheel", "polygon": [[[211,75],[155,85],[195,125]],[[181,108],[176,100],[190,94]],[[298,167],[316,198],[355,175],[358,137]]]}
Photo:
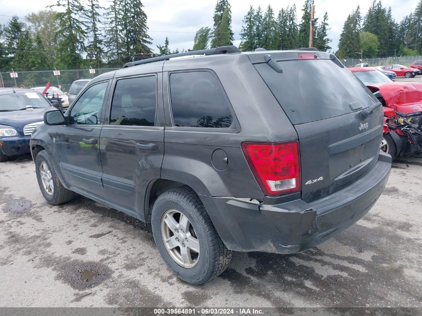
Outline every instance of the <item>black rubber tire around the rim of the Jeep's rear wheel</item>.
{"label": "black rubber tire around the rim of the Jeep's rear wheel", "polygon": [[[168,210],[182,212],[195,230],[200,254],[192,268],[180,266],[164,245],[161,220]],[[167,266],[178,278],[192,285],[201,285],[214,279],[227,269],[232,259],[232,251],[226,248],[216,232],[201,200],[186,186],[166,191],[155,201],[152,209],[152,233]]]}

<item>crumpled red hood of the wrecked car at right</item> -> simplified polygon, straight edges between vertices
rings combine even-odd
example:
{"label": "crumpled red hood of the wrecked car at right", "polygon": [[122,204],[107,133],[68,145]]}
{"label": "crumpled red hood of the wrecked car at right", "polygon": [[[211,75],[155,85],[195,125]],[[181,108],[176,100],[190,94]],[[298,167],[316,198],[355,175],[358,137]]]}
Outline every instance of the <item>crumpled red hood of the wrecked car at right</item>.
{"label": "crumpled red hood of the wrecked car at right", "polygon": [[380,91],[388,107],[399,112],[422,111],[422,83],[385,82],[368,86],[372,92]]}

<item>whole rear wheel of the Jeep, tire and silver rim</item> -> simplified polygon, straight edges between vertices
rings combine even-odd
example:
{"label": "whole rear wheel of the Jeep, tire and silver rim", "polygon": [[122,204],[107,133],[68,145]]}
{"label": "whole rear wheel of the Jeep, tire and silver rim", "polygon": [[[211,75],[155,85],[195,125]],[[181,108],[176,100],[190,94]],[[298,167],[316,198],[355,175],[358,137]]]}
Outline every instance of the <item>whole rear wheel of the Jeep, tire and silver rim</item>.
{"label": "whole rear wheel of the Jeep, tire and silver rim", "polygon": [[152,209],[152,233],[167,266],[181,280],[200,285],[227,269],[232,252],[204,205],[188,187],[161,194]]}

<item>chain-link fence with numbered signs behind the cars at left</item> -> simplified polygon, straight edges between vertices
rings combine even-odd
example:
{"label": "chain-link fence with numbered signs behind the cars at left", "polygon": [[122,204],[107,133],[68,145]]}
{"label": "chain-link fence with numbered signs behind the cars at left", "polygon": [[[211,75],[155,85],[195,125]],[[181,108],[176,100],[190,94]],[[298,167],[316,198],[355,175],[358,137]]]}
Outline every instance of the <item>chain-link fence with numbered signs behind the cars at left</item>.
{"label": "chain-link fence with numbered signs behind the cars at left", "polygon": [[[60,75],[54,75],[54,70],[0,72],[0,87],[19,87],[20,85],[25,88],[44,87],[50,82],[52,86],[61,85],[63,91],[69,91],[70,85],[77,79],[91,79],[116,69],[119,68],[60,70]],[[95,73],[91,73],[93,71]],[[15,74],[17,77],[14,77]]]}

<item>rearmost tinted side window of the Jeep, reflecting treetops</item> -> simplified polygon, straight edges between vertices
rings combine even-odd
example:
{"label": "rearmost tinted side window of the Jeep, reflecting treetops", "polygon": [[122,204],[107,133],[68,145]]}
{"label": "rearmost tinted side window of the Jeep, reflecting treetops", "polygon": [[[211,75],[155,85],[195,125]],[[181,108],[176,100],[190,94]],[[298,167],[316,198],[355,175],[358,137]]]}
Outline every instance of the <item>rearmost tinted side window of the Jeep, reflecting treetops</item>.
{"label": "rearmost tinted side window of the Jeep, reflecting treetops", "polygon": [[221,84],[208,71],[172,73],[170,95],[176,126],[228,128],[233,123]]}

